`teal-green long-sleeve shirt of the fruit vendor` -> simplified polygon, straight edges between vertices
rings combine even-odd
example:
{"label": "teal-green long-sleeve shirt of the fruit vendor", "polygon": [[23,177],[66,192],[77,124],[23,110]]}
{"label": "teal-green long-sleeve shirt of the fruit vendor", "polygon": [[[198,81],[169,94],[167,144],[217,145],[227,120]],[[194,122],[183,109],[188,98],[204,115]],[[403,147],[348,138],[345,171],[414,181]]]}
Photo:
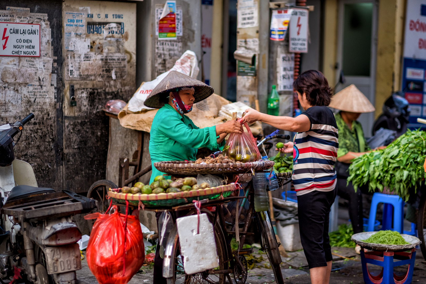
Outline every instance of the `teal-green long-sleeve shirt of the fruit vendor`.
{"label": "teal-green long-sleeve shirt of the fruit vendor", "polygon": [[157,175],[154,163],[160,161],[194,161],[198,148],[223,149],[225,140],[217,143],[216,126],[199,129],[186,115],[179,115],[169,104],[155,114],[150,132],[150,155],[153,166],[150,183]]}

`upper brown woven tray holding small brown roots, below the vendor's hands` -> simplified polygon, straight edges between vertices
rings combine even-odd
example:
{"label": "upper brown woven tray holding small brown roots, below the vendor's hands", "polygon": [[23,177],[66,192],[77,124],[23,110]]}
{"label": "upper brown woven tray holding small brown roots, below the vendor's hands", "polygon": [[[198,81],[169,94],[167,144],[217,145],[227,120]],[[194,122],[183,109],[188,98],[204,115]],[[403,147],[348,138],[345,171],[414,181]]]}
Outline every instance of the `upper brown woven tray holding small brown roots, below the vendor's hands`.
{"label": "upper brown woven tray holding small brown roots, below the vendor's hands", "polygon": [[155,168],[160,172],[176,175],[195,175],[195,174],[220,174],[255,172],[270,169],[273,161],[255,161],[241,164],[195,164],[195,161],[164,161],[154,163]]}

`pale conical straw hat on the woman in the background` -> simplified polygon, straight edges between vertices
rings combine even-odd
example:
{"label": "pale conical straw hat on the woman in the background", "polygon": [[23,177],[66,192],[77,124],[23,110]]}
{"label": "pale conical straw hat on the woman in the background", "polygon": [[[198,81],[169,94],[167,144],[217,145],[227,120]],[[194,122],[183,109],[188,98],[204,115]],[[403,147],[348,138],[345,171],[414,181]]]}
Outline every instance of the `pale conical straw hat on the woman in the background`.
{"label": "pale conical straw hat on the woman in the background", "polygon": [[337,92],[331,98],[329,107],[346,112],[374,112],[374,106],[354,84]]}

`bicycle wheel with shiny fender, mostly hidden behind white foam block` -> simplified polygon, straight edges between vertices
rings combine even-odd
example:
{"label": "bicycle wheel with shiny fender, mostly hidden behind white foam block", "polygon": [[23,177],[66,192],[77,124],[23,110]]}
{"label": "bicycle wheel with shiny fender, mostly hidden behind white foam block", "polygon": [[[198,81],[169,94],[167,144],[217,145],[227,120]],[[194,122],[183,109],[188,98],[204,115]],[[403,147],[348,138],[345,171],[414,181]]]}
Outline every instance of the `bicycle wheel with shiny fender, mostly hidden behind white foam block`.
{"label": "bicycle wheel with shiny fender, mostly hidden behind white foam block", "polygon": [[[214,217],[210,211],[203,209],[201,211],[202,213],[207,213],[210,221],[213,221]],[[190,212],[188,215],[193,214],[196,214],[196,212]],[[228,267],[227,261],[225,261],[226,247],[222,229],[218,226],[219,223],[214,227],[216,250],[219,258],[219,267],[215,270],[225,270]],[[179,236],[176,225],[173,227],[167,240],[163,277],[167,278],[167,284],[225,284],[225,274],[214,274],[208,271],[191,275],[185,274],[183,256],[180,255]]]}

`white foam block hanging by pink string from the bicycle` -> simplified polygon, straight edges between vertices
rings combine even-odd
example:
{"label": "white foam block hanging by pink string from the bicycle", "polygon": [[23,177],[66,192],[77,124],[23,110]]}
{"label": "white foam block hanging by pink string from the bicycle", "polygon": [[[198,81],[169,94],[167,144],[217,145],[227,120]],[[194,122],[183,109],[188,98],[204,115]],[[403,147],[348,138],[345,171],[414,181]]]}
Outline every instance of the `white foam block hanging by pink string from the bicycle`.
{"label": "white foam block hanging by pink string from the bicycle", "polygon": [[186,274],[200,273],[219,266],[213,224],[207,214],[200,214],[199,234],[197,215],[176,219],[176,226]]}

